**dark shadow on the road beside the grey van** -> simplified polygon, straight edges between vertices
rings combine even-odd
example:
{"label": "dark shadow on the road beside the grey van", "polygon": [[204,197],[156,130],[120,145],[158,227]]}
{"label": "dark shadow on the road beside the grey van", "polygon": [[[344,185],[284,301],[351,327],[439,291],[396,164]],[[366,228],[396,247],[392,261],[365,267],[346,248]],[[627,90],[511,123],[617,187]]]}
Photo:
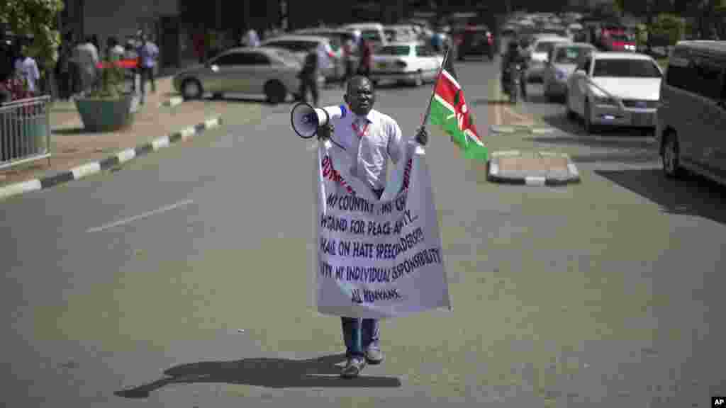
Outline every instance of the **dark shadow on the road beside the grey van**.
{"label": "dark shadow on the road beside the grey van", "polygon": [[595,171],[621,187],[661,206],[671,214],[700,216],[726,224],[726,188],[701,176],[666,179],[661,170]]}

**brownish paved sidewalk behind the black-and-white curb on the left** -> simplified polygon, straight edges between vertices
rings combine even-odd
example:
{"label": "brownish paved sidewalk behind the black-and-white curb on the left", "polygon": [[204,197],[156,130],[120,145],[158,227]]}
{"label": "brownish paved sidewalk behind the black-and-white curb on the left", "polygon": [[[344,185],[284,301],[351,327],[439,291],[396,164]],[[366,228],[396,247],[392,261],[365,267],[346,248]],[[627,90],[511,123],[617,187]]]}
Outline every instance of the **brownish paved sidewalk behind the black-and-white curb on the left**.
{"label": "brownish paved sidewalk behind the black-and-white curb on the left", "polygon": [[0,187],[39,179],[85,163],[102,160],[121,150],[134,148],[153,139],[196,126],[211,118],[240,115],[258,118],[261,104],[256,102],[192,101],[168,106],[177,98],[172,77],[158,78],[156,92],[147,92],[146,103],[139,107],[134,123],[128,128],[105,133],[91,133],[83,123],[73,102],[55,102],[51,110],[52,157],[0,171]]}

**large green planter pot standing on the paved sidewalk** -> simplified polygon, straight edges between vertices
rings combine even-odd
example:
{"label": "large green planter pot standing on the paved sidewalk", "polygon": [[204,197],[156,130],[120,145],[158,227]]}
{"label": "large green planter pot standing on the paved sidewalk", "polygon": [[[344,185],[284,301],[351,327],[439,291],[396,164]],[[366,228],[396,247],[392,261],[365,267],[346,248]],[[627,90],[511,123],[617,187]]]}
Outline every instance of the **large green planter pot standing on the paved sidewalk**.
{"label": "large green planter pot standing on the paved sidewalk", "polygon": [[87,131],[116,131],[133,121],[132,99],[133,94],[123,94],[119,99],[81,98],[75,102]]}

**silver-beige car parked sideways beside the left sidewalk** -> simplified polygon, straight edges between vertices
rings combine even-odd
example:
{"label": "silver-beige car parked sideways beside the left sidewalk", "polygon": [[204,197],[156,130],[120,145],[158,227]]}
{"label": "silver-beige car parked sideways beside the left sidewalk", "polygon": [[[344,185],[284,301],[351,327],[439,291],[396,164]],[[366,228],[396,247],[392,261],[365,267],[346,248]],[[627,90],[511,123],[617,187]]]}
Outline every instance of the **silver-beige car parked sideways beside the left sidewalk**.
{"label": "silver-beige car parked sideways beside the left sidewalk", "polygon": [[264,94],[271,103],[284,102],[300,87],[298,58],[284,49],[234,48],[212,58],[205,66],[184,70],[173,79],[184,99],[199,99],[205,92]]}

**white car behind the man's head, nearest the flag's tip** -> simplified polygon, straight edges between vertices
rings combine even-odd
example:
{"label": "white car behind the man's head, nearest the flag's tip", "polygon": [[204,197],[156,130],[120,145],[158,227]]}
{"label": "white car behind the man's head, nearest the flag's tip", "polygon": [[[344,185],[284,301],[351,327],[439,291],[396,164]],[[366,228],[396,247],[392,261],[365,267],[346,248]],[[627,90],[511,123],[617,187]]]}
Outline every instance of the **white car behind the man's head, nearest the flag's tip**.
{"label": "white car behind the man's head, nearest the flag's tip", "polygon": [[373,83],[393,80],[420,86],[425,81],[436,81],[443,62],[441,55],[420,42],[392,43],[373,53],[370,78]]}

